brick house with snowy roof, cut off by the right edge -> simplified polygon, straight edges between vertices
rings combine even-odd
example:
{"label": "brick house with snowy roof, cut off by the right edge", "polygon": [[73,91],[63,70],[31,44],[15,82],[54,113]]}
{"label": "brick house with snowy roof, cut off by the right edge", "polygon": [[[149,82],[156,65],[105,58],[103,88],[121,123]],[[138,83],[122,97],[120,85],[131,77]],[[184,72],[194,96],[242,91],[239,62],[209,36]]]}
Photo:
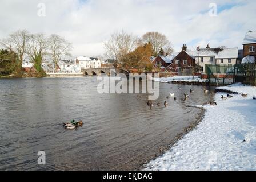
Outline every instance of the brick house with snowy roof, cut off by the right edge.
{"label": "brick house with snowy roof, cut off by the right edge", "polygon": [[[256,31],[249,31],[243,39],[243,58],[255,60],[256,57]],[[245,61],[245,59],[244,59]],[[243,62],[244,62],[243,61]]]}

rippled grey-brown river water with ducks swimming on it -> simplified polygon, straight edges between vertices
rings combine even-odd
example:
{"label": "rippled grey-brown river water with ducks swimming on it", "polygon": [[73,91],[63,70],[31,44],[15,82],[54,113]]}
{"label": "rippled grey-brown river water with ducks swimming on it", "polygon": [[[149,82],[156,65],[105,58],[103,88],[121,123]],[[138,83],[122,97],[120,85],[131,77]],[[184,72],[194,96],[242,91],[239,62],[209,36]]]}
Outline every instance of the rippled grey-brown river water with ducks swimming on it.
{"label": "rippled grey-brown river water with ducks swimming on it", "polygon": [[[99,94],[97,84],[96,77],[0,79],[0,169],[138,169],[201,113],[187,104],[211,99],[202,86],[159,83],[161,106],[150,110],[147,94]],[[177,101],[166,99],[170,92]],[[71,119],[84,125],[64,129]]]}

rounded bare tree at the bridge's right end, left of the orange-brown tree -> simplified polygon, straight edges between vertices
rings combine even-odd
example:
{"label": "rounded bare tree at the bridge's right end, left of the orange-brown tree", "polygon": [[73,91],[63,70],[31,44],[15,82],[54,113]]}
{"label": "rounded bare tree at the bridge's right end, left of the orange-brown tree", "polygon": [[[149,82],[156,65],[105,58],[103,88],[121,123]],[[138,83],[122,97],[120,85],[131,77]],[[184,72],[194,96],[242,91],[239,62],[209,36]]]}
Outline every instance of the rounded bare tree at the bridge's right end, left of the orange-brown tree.
{"label": "rounded bare tree at the bridge's right end, left of the orange-brown tree", "polygon": [[137,38],[125,31],[114,32],[108,41],[104,42],[106,56],[109,59],[122,61],[127,53],[133,51]]}

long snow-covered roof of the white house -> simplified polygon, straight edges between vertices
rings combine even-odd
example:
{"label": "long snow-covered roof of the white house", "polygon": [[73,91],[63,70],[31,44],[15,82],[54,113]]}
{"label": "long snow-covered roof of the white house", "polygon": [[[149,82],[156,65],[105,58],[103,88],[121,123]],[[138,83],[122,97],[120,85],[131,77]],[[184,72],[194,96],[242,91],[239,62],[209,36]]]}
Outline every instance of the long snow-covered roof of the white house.
{"label": "long snow-covered roof of the white house", "polygon": [[215,56],[215,59],[237,58],[238,48],[203,48],[198,49],[195,56]]}

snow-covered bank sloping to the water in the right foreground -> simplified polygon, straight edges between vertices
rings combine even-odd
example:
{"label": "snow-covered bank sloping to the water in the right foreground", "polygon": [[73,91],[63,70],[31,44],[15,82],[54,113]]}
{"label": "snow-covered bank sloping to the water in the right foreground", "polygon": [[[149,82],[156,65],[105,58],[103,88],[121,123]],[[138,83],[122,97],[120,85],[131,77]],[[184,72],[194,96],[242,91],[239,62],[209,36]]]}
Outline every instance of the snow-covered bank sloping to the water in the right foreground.
{"label": "snow-covered bank sloping to the water in the right foreground", "polygon": [[256,170],[256,87],[234,84],[225,87],[248,94],[222,100],[206,109],[198,127],[169,151],[146,164],[146,170]]}

